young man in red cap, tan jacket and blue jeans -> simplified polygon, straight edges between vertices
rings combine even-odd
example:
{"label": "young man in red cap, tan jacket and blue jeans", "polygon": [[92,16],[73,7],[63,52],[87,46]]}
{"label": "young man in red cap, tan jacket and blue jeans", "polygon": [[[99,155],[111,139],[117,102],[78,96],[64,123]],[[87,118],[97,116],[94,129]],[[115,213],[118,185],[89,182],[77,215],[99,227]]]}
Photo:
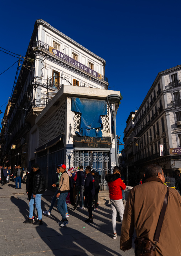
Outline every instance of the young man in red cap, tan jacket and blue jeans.
{"label": "young man in red cap, tan jacket and blue jeans", "polygon": [[61,164],[58,165],[60,173],[62,173],[59,181],[59,187],[58,187],[58,193],[57,193],[57,209],[62,215],[62,220],[58,221],[58,224],[60,227],[64,227],[66,224],[68,224],[68,220],[66,218],[66,197],[69,192],[69,176],[66,171],[66,165]]}

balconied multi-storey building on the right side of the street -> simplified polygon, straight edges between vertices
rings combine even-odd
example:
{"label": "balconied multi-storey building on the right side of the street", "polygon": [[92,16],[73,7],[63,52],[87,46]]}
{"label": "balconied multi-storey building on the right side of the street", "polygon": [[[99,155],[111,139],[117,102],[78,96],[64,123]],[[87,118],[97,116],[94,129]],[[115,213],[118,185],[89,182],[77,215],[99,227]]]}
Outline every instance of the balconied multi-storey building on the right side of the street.
{"label": "balconied multi-storey building on the right side of the street", "polygon": [[181,145],[180,80],[181,65],[159,72],[133,118],[134,167],[141,175],[151,163],[160,165],[167,175],[181,168],[181,154],[169,151]]}

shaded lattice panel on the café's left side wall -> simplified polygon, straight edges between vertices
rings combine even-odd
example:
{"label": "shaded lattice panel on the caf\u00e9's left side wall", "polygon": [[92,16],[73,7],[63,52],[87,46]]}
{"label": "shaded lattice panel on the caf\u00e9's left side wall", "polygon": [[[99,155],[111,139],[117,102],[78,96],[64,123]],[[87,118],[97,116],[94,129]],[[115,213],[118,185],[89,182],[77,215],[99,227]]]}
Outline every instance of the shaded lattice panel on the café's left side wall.
{"label": "shaded lattice panel on the caf\u00e9's left side wall", "polygon": [[47,120],[40,126],[39,146],[63,133],[65,129],[65,103],[62,104]]}

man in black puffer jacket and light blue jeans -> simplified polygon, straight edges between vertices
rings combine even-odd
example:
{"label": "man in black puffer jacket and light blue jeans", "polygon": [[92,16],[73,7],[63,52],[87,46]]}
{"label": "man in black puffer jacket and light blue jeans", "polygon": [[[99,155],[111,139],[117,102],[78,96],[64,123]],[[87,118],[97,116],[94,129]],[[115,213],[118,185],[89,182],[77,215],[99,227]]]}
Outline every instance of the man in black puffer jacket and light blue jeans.
{"label": "man in black puffer jacket and light blue jeans", "polygon": [[[46,189],[45,178],[39,169],[38,164],[33,164],[32,166],[34,176],[33,176],[33,193],[29,202],[30,215],[29,219],[25,220],[24,223],[32,223],[34,225],[42,225],[42,210],[41,210],[41,196]],[[33,222],[33,204],[36,204],[36,209],[38,211],[38,220]]]}

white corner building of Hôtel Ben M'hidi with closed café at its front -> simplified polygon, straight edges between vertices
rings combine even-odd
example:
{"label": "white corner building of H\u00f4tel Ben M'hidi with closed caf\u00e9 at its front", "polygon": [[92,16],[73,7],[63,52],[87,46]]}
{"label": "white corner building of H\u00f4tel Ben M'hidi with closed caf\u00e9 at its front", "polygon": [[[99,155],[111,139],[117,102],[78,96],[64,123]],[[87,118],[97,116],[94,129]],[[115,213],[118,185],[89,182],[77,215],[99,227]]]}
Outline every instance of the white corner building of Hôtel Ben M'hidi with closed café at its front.
{"label": "white corner building of H\u00f4tel Ben M'hidi with closed caf\u00e9 at its front", "polygon": [[[46,21],[36,20],[21,65],[3,119],[1,163],[31,168],[38,162],[47,185],[52,184],[58,163],[67,168],[92,165],[101,173],[105,189],[104,175],[115,164],[111,115],[105,98],[120,95],[108,91],[105,60]],[[94,121],[95,109],[102,112],[99,122],[83,128],[81,109],[88,104],[89,121]]]}

